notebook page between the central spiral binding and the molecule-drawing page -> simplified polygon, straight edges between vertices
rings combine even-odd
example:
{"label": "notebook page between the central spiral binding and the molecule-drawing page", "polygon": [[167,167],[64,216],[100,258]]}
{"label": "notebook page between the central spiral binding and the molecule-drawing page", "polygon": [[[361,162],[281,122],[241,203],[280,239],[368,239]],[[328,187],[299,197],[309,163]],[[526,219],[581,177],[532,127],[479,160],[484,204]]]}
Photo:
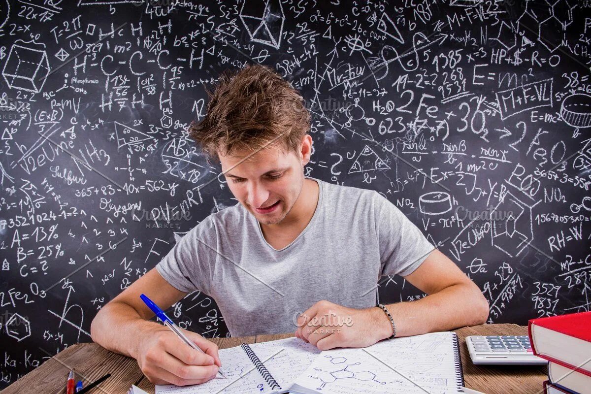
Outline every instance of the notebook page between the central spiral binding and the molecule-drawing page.
{"label": "notebook page between the central spiral binding and the molecule-drawing page", "polygon": [[[279,383],[281,390],[288,389],[321,352],[316,346],[296,337],[249,346],[261,361],[267,360],[265,367]],[[274,354],[277,355],[273,356]]]}

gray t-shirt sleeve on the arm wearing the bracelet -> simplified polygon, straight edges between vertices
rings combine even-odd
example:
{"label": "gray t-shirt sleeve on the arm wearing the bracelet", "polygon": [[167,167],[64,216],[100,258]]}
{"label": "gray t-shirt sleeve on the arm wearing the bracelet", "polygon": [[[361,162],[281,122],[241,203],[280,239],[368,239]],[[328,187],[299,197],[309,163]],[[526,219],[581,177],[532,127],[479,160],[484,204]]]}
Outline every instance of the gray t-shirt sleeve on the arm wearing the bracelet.
{"label": "gray t-shirt sleeve on the arm wearing the bracelet", "polygon": [[381,275],[410,275],[427,259],[434,247],[400,209],[377,191],[374,193]]}

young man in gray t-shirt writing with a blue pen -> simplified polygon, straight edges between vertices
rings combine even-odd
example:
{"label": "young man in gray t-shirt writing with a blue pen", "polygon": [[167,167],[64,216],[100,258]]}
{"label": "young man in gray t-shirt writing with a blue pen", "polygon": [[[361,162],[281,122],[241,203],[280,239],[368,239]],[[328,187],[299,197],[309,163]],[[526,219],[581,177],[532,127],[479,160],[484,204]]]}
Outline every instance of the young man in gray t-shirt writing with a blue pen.
{"label": "young man in gray t-shirt writing with a blue pen", "polygon": [[[211,95],[211,94],[210,94]],[[310,114],[291,85],[264,66],[222,74],[190,136],[218,158],[235,206],[206,217],[147,274],[106,304],[90,327],[106,349],[138,360],[153,383],[212,379],[217,347],[186,331],[183,346],[139,298],[165,309],[199,289],[232,336],[295,331],[319,349],[365,347],[485,323],[478,286],[376,191],[304,177]],[[380,276],[427,293],[376,307]],[[461,312],[460,312],[461,311]]]}

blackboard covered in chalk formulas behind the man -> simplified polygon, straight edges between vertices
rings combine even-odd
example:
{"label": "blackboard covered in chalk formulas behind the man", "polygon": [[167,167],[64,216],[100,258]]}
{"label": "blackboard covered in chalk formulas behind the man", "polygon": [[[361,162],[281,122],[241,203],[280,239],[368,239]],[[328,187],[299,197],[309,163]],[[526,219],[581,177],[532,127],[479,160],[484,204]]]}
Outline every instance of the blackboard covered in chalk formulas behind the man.
{"label": "blackboard covered in chalk formulas behind the man", "polygon": [[[106,302],[236,203],[186,129],[249,63],[306,100],[306,175],[387,197],[490,323],[588,311],[591,12],[550,3],[0,1],[0,384],[90,341]],[[379,296],[424,294],[398,276]],[[171,313],[228,335],[206,294]]]}

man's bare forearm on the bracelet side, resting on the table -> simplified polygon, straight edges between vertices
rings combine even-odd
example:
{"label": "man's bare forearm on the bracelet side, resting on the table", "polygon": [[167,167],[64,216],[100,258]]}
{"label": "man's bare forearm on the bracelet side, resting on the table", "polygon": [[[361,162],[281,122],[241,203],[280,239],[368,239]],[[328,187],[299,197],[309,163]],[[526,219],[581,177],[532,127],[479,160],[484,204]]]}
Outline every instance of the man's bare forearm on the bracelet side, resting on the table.
{"label": "man's bare forearm on the bracelet side, resting on the table", "polygon": [[[407,337],[434,331],[449,331],[466,325],[486,323],[488,303],[475,286],[449,286],[416,301],[385,305],[396,324],[396,336]],[[384,337],[392,334],[389,320],[381,312]],[[385,322],[385,323],[384,323]]]}

